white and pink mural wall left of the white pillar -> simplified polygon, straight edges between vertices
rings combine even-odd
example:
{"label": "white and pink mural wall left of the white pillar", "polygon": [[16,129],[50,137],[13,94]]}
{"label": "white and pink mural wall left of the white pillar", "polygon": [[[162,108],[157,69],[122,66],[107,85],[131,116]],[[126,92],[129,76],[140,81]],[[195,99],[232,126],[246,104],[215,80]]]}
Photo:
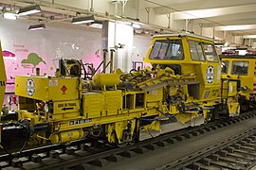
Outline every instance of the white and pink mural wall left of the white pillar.
{"label": "white and pink mural wall left of the white pillar", "polygon": [[[101,63],[101,29],[80,26],[46,25],[45,30],[29,31],[31,23],[0,19],[0,40],[4,52],[8,82],[17,75],[53,75],[58,59],[82,59],[97,67]],[[30,53],[37,54],[41,62],[22,63]],[[26,62],[26,60],[25,60]],[[14,92],[8,85],[7,92]]]}

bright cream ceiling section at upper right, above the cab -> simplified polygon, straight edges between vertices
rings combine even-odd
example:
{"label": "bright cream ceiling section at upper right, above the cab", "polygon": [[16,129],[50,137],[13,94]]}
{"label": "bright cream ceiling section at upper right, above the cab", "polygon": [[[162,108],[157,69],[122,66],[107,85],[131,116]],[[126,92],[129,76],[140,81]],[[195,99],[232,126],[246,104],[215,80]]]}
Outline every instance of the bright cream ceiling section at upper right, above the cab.
{"label": "bright cream ceiling section at upper right, above the cab", "polygon": [[[174,20],[192,19],[215,30],[256,34],[256,0],[144,0],[155,14],[174,13]],[[143,7],[145,8],[145,7]],[[239,30],[239,31],[237,31]]]}

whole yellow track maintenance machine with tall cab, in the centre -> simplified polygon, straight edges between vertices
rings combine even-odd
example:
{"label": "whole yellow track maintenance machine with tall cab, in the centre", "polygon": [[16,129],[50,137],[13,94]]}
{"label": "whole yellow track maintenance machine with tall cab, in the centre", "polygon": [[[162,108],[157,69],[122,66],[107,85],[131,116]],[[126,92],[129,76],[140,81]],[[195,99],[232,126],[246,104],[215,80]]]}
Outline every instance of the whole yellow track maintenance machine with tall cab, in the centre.
{"label": "whole yellow track maintenance machine with tall cab, in the centre", "polygon": [[[155,36],[145,60],[154,68],[117,69],[92,80],[72,76],[68,69],[61,76],[16,76],[16,127],[22,134],[26,129],[28,144],[92,136],[129,144],[204,124],[220,109],[228,116],[239,114],[237,83],[221,85],[221,64],[210,39],[187,33]],[[221,87],[232,88],[223,93]]]}

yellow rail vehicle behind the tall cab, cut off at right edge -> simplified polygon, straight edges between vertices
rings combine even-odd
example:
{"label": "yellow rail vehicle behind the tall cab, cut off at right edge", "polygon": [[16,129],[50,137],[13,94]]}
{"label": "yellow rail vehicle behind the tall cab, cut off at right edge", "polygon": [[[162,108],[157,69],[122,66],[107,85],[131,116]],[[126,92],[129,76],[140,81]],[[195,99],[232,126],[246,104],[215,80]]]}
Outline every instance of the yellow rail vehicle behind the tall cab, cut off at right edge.
{"label": "yellow rail vehicle behind the tall cab, cut off at right edge", "polygon": [[256,107],[256,56],[221,56],[222,76],[241,80],[241,110]]}

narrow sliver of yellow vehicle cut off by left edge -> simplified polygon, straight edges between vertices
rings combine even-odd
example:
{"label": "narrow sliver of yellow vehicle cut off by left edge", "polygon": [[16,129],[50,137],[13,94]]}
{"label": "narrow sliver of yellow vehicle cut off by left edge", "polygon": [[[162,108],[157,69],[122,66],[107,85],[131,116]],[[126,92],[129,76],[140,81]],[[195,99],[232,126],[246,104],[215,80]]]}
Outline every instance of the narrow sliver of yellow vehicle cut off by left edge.
{"label": "narrow sliver of yellow vehicle cut off by left edge", "polygon": [[2,54],[2,46],[0,42],[0,109],[2,108],[2,104],[4,102],[6,84],[7,84],[7,76],[6,76],[5,63],[4,63],[3,54]]}

